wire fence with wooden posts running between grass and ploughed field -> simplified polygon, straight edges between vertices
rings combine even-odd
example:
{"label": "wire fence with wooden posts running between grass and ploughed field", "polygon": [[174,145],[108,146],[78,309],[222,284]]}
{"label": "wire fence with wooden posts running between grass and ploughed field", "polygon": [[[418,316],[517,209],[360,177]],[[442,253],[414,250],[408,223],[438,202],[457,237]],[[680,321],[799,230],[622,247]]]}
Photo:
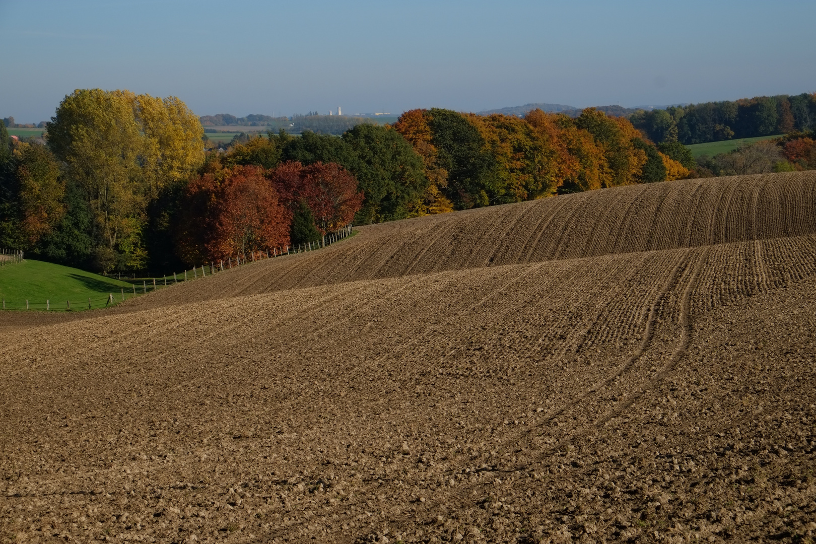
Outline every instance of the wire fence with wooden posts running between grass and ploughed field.
{"label": "wire fence with wooden posts running between grass and ploughed field", "polygon": [[[73,299],[56,300],[46,299],[42,301],[17,301],[11,302],[2,299],[2,310],[44,310],[47,312],[77,312],[81,310],[94,310],[104,307],[113,307],[118,303],[125,302],[129,299],[148,294],[153,291],[166,289],[172,285],[178,285],[185,281],[193,281],[205,278],[206,276],[215,276],[221,272],[227,272],[231,268],[237,268],[247,263],[255,263],[263,259],[275,259],[285,255],[305,253],[307,251],[315,251],[326,247],[326,245],[335,244],[353,233],[352,226],[346,225],[337,232],[330,232],[323,237],[321,241],[306,242],[299,245],[284,245],[282,248],[273,248],[271,253],[269,250],[251,251],[245,254],[237,254],[233,257],[228,257],[226,261],[219,260],[217,263],[211,261],[210,263],[202,264],[193,267],[184,272],[173,272],[171,275],[164,276],[146,276],[146,277],[126,277],[122,275],[109,276],[117,277],[121,281],[130,283],[129,287],[121,287],[119,293],[109,293],[104,298],[99,299]],[[22,262],[23,253],[19,252],[20,260]]]}

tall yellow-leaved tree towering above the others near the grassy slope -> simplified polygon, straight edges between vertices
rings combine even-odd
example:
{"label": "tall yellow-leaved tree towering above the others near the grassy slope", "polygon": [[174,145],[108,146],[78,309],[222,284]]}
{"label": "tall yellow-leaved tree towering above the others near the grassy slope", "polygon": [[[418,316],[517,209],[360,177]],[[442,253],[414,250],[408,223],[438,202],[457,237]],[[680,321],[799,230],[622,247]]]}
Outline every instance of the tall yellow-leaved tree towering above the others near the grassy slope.
{"label": "tall yellow-leaved tree towering above the others near the grassy slope", "polygon": [[65,96],[48,123],[47,143],[93,212],[96,268],[144,268],[146,206],[202,165],[202,135],[197,117],[175,97],[101,89]]}

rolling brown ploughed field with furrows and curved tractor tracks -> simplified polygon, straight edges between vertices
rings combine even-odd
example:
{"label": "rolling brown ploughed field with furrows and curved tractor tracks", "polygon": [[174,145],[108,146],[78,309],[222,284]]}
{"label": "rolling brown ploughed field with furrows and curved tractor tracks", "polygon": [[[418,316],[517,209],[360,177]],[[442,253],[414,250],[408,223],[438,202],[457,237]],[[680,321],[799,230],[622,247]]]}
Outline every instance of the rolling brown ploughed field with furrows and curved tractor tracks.
{"label": "rolling brown ploughed field with furrows and curved tractor tracks", "polygon": [[364,227],[20,316],[0,329],[0,531],[807,542],[814,254],[812,176],[689,180]]}

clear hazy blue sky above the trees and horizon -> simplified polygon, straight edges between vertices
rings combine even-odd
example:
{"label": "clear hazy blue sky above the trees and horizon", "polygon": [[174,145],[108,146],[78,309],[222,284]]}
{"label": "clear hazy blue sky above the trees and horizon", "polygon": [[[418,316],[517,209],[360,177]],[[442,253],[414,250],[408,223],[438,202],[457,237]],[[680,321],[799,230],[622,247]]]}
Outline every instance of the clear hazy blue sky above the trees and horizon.
{"label": "clear hazy blue sky above the trees and horizon", "polygon": [[237,116],[798,94],[814,20],[814,0],[0,0],[0,117],[87,87]]}

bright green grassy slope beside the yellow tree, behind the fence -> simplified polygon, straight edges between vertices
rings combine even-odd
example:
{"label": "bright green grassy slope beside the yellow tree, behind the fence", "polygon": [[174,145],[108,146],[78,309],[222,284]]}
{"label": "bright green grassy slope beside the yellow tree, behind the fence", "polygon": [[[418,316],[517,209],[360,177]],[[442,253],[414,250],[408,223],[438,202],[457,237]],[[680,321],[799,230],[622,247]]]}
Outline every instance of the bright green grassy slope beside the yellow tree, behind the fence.
{"label": "bright green grassy slope beside the yellow tree, behind the fence", "polygon": [[122,288],[130,288],[132,296],[132,286],[126,281],[43,261],[27,259],[0,267],[0,298],[6,299],[7,307],[11,303],[25,307],[26,299],[38,309],[45,306],[46,300],[55,309],[64,309],[66,300],[76,309],[86,308],[88,299],[96,301],[94,307],[104,307],[109,293],[118,301],[122,299]]}

